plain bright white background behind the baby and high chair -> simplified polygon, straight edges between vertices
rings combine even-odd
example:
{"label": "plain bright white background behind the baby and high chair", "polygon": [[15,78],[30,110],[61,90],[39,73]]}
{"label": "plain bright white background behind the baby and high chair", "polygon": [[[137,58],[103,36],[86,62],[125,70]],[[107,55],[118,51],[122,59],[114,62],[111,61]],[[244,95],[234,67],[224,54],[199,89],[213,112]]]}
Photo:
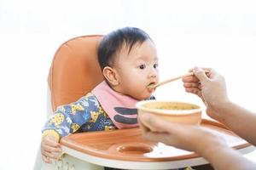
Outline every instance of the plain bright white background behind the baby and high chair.
{"label": "plain bright white background behind the baby and high chair", "polygon": [[[152,37],[161,80],[195,65],[212,67],[226,77],[230,99],[256,111],[253,0],[0,0],[1,170],[32,169],[46,119],[49,66],[61,43],[124,26]],[[155,95],[201,105],[181,82]]]}

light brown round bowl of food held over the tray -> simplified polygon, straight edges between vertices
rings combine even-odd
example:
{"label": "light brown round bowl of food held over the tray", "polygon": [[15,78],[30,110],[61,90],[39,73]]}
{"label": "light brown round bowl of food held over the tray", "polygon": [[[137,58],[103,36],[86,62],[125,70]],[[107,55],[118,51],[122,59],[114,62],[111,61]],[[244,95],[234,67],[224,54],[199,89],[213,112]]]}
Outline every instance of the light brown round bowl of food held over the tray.
{"label": "light brown round bowl of food held over the tray", "polygon": [[201,107],[195,104],[146,100],[138,102],[136,107],[138,109],[138,116],[151,113],[170,122],[195,125],[201,122]]}

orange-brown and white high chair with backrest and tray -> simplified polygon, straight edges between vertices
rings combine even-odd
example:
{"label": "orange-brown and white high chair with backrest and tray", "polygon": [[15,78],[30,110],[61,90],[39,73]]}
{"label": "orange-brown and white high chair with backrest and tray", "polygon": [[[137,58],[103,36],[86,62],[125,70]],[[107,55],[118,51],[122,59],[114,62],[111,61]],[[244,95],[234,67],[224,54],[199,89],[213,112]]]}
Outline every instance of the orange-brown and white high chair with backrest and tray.
{"label": "orange-brown and white high chair with backrest and tray", "polygon": [[[64,42],[57,50],[48,77],[49,114],[59,105],[78,100],[102,82],[96,54],[101,38],[76,37]],[[236,147],[241,153],[253,150],[251,144],[218,122],[203,120],[201,126],[222,135],[230,142],[230,147]],[[44,165],[43,169],[171,169],[207,163],[195,153],[143,139],[139,128],[75,133],[61,139],[61,145],[61,159]]]}

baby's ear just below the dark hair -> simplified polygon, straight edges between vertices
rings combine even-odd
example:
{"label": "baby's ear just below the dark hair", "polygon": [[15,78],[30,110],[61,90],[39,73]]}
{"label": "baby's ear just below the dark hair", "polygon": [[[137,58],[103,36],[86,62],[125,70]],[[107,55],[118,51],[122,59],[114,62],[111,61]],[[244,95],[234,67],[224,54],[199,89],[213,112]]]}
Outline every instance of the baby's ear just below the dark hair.
{"label": "baby's ear just below the dark hair", "polygon": [[119,85],[117,72],[112,67],[104,67],[102,74],[112,86]]}

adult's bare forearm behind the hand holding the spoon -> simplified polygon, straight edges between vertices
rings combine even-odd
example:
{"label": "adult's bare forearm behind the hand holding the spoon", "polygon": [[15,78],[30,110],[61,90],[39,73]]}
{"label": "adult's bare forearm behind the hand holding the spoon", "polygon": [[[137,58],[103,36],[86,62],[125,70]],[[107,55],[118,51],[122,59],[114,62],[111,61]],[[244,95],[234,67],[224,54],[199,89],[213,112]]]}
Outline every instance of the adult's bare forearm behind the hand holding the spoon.
{"label": "adult's bare forearm behind the hand holding the spoon", "polygon": [[252,133],[256,130],[255,113],[247,111],[232,102],[221,105],[218,112],[220,113],[219,122],[230,127],[242,139],[246,139],[249,143],[256,145],[256,133]]}

